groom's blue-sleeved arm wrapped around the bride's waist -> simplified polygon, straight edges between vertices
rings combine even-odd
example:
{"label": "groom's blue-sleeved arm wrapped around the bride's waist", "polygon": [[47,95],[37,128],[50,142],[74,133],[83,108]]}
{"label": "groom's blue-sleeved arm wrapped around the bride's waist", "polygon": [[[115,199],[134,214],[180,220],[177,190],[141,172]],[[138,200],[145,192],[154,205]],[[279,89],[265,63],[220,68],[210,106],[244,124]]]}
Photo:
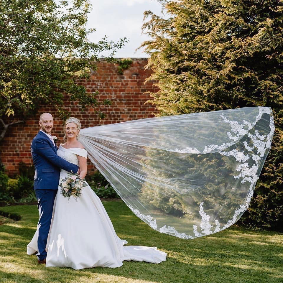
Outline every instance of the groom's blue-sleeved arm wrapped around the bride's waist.
{"label": "groom's blue-sleeved arm wrapped around the bride's waist", "polygon": [[79,167],[76,164],[70,163],[55,154],[55,152],[45,140],[37,139],[37,141],[35,141],[34,151],[59,168],[62,168],[68,172],[78,172]]}

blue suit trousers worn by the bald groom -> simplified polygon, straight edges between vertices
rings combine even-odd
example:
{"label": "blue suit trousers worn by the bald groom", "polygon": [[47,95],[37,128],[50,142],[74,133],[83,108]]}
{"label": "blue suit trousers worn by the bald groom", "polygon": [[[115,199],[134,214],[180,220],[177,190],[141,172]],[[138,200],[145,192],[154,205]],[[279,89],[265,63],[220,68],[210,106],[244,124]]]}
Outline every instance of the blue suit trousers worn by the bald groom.
{"label": "blue suit trousers worn by the bald groom", "polygon": [[37,259],[44,260],[47,256],[46,244],[50,229],[54,200],[57,190],[34,190],[37,198],[37,208],[39,211],[39,221],[37,224],[38,238],[37,238]]}

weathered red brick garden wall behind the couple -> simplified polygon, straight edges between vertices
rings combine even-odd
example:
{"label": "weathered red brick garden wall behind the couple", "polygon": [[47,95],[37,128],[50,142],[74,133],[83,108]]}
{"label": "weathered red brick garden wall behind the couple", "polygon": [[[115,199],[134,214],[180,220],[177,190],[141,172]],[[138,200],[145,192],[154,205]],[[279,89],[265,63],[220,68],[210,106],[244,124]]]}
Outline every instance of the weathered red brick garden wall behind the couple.
{"label": "weathered red brick garden wall behind the couple", "polygon": [[[153,117],[150,113],[154,112],[154,107],[149,104],[144,105],[149,99],[149,94],[144,92],[158,91],[158,88],[152,85],[153,81],[144,84],[145,78],[149,77],[152,71],[144,70],[147,64],[146,58],[132,58],[132,60],[133,63],[129,69],[124,70],[123,75],[117,72],[117,65],[99,61],[98,69],[92,72],[91,79],[80,82],[89,92],[99,91],[98,100],[108,98],[112,101],[111,106],[102,106],[100,109],[107,114],[105,119],[99,121],[93,108],[87,108],[81,113],[75,102],[65,101],[65,106],[72,116],[80,119],[82,128]],[[51,105],[42,106],[33,118],[27,119],[23,124],[11,126],[6,133],[0,148],[0,158],[10,176],[18,173],[19,162],[32,164],[30,144],[40,129],[38,124],[40,113],[44,112],[53,115],[52,135],[59,138],[57,144],[63,142],[62,120],[56,117],[55,109]],[[94,170],[95,168],[88,161],[88,174]]]}

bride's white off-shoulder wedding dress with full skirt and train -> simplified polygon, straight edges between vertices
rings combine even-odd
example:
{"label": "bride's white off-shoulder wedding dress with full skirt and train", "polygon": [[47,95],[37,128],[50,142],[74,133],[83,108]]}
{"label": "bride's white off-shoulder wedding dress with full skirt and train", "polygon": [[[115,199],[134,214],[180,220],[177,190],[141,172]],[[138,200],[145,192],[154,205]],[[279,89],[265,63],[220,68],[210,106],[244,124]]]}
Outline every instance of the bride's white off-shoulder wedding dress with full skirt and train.
{"label": "bride's white off-shoulder wedding dress with full skirt and train", "polygon": [[[77,155],[86,157],[87,151],[80,148],[65,149],[60,144],[57,154],[77,164]],[[60,180],[67,171],[60,172]],[[78,198],[64,198],[58,188],[54,202],[52,221],[47,240],[46,266],[66,266],[73,269],[96,266],[119,267],[124,260],[160,263],[167,254],[156,247],[124,246],[114,230],[101,200],[91,187],[83,188]],[[27,245],[27,254],[37,252],[37,232]]]}

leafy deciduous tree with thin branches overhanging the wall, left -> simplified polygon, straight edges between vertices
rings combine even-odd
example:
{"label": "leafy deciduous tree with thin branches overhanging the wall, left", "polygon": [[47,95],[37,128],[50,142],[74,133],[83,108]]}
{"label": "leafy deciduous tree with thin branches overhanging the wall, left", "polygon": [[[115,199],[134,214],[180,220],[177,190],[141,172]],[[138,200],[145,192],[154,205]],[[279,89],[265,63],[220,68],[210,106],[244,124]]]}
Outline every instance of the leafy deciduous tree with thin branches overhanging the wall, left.
{"label": "leafy deciduous tree with thin branches overhanging the wall, left", "polygon": [[[53,105],[65,119],[64,95],[82,110],[92,106],[104,117],[98,92],[88,93],[77,82],[89,78],[98,59],[115,61],[113,55],[127,39],[89,42],[87,36],[95,32],[85,28],[90,11],[88,0],[73,0],[70,6],[68,1],[1,1],[0,141],[10,125],[34,115],[40,104]],[[106,50],[109,55],[99,58]]]}

